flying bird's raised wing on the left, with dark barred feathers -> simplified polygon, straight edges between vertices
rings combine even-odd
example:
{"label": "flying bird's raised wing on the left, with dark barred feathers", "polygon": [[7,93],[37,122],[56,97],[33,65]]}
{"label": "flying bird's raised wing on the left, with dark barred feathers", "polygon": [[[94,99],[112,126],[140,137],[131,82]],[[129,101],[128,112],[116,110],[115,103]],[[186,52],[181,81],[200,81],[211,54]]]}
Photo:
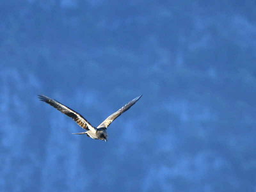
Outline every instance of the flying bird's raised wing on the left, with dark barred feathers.
{"label": "flying bird's raised wing on the left, with dark barred feathers", "polygon": [[79,113],[68,108],[67,106],[61,104],[57,100],[46,97],[45,95],[38,95],[38,98],[47,104],[50,104],[52,107],[58,109],[61,113],[64,113],[67,116],[72,117],[72,119],[83,129],[95,131],[95,128]]}

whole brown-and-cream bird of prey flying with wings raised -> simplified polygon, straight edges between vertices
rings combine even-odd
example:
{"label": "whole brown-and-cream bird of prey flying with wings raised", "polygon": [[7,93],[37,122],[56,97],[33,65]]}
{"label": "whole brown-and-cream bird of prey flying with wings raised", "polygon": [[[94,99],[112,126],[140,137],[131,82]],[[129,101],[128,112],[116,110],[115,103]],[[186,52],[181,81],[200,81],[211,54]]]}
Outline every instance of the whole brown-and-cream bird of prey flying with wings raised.
{"label": "whole brown-and-cream bird of prey flying with wings raised", "polygon": [[127,111],[131,108],[140,98],[136,97],[135,99],[132,99],[130,102],[125,104],[122,108],[118,109],[115,113],[112,115],[109,115],[104,122],[102,122],[98,127],[93,127],[88,120],[86,120],[82,115],[74,111],[73,109],[68,108],[67,106],[61,104],[57,100],[51,99],[49,97],[46,97],[45,95],[38,95],[38,98],[47,104],[50,104],[52,107],[58,109],[61,113],[64,113],[67,116],[70,116],[79,126],[81,126],[83,129],[86,129],[85,132],[77,132],[72,134],[86,134],[90,138],[93,138],[95,140],[104,140],[108,141],[108,133],[107,128],[108,126],[115,120],[118,116],[120,116],[122,113]]}

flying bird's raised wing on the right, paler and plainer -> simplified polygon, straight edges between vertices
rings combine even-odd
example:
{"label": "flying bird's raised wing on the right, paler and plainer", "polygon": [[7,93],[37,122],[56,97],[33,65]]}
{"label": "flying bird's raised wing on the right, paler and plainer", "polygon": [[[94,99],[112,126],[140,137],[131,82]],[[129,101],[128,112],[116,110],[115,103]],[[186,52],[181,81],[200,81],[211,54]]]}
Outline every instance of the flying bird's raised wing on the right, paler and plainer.
{"label": "flying bird's raised wing on the right, paler and plainer", "polygon": [[139,97],[136,97],[135,99],[132,99],[130,102],[125,104],[124,107],[118,109],[118,111],[116,111],[112,115],[108,116],[108,118],[106,118],[106,120],[104,120],[104,122],[102,122],[97,128],[100,128],[100,127],[106,127],[107,128],[113,122],[113,120],[115,120],[122,113],[124,113],[125,111],[130,109],[131,106],[133,106],[141,97],[142,97],[142,95],[140,95]]}

